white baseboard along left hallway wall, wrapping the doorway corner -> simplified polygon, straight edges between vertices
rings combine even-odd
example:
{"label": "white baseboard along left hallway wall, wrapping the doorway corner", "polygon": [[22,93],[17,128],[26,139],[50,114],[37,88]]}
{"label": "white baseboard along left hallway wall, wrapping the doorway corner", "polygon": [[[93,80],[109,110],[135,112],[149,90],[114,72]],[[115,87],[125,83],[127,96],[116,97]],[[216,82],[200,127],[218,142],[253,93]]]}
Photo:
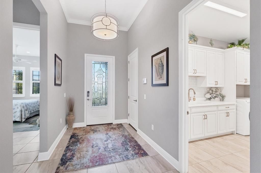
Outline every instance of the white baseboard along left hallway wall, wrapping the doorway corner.
{"label": "white baseboard along left hallway wall, wrapping the doorway corner", "polygon": [[67,124],[64,126],[61,133],[57,136],[54,143],[52,143],[51,147],[49,148],[49,150],[47,152],[39,152],[38,160],[37,160],[38,162],[48,160],[51,157],[52,153],[54,152],[54,149],[56,148],[57,144],[61,140],[66,129],[67,129]]}

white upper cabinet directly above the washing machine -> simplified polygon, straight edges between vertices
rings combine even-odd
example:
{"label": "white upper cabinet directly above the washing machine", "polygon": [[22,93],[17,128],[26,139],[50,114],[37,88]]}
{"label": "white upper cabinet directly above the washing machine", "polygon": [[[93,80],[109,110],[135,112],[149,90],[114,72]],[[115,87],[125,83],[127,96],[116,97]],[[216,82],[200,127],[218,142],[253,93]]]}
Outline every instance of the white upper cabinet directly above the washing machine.
{"label": "white upper cabinet directly above the washing machine", "polygon": [[236,51],[236,84],[250,84],[250,53],[246,51]]}

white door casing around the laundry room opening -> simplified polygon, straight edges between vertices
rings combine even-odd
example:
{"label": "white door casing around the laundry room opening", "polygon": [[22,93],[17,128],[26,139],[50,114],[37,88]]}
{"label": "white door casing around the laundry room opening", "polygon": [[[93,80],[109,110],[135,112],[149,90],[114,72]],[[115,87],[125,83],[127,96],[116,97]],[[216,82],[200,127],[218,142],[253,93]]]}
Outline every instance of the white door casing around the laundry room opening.
{"label": "white door casing around the laundry room opening", "polygon": [[179,172],[188,172],[188,13],[208,0],[193,0],[179,12]]}

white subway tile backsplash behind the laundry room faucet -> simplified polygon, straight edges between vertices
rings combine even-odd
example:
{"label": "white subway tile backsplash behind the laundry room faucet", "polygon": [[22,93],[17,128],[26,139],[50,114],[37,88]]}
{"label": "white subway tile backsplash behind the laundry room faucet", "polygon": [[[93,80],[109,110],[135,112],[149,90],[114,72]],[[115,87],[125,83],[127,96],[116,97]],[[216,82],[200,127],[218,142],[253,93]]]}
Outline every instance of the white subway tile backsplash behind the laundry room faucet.
{"label": "white subway tile backsplash behind the laundry room faucet", "polygon": [[[188,77],[188,88],[193,88],[196,92],[196,100],[197,98],[205,98],[205,95],[207,94],[207,89],[210,89],[210,87],[198,87],[197,86],[197,77]],[[193,98],[194,93],[192,90],[189,91],[189,95],[191,98]]]}

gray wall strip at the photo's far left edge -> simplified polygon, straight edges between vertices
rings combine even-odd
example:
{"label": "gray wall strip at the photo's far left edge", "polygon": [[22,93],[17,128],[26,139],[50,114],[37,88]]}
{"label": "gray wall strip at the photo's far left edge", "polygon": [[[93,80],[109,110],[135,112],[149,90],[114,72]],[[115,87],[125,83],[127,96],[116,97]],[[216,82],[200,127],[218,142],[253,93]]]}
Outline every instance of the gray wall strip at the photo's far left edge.
{"label": "gray wall strip at the photo's far left edge", "polygon": [[13,172],[13,1],[0,1],[0,172]]}

